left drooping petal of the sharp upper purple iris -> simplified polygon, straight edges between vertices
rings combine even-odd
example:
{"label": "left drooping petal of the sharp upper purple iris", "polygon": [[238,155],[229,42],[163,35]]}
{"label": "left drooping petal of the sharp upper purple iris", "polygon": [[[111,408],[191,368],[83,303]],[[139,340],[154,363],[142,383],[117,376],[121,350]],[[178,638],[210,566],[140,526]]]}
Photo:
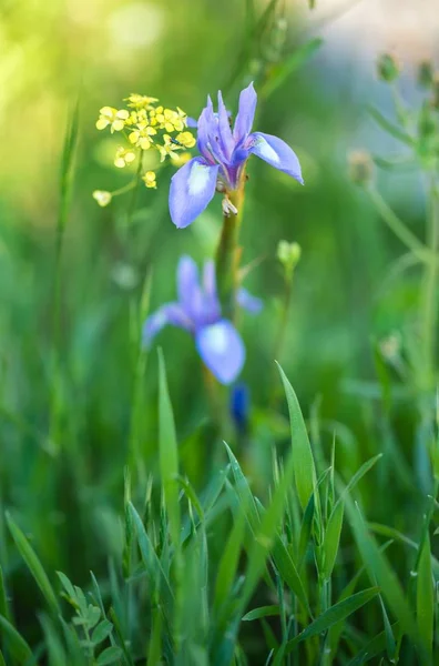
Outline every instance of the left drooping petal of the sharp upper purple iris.
{"label": "left drooping petal of the sharp upper purple iris", "polygon": [[208,164],[203,158],[194,158],[173,175],[170,213],[175,226],[188,226],[212,201],[218,169],[218,164]]}

